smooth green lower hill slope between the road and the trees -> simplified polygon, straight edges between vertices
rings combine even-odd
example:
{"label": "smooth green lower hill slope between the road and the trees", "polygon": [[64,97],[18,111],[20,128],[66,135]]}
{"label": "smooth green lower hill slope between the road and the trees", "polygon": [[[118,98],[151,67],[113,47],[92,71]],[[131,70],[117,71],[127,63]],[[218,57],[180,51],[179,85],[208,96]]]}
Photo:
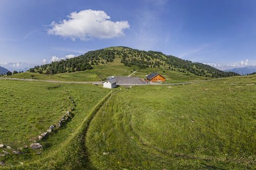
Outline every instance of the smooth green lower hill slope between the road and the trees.
{"label": "smooth green lower hill slope between the road and the trees", "polygon": [[[120,63],[120,58],[114,60],[113,63],[107,65],[94,65],[94,68],[86,71],[76,71],[76,72],[66,72],[56,75],[43,75],[38,73],[24,72],[21,74],[16,74],[8,76],[11,78],[20,79],[31,79],[31,75],[34,75],[34,79],[39,80],[55,80],[55,81],[100,81],[102,78],[109,76],[128,76],[136,69],[137,72],[133,75],[145,79],[146,75],[151,74],[151,72],[159,72],[166,78],[167,83],[179,83],[179,82],[189,82],[189,81],[200,81],[211,78],[205,78],[200,76],[195,76],[190,74],[186,76],[183,72],[168,70],[167,68],[147,68],[139,69],[136,66],[127,67]],[[163,72],[165,70],[165,72]],[[7,77],[7,76],[6,76]]]}

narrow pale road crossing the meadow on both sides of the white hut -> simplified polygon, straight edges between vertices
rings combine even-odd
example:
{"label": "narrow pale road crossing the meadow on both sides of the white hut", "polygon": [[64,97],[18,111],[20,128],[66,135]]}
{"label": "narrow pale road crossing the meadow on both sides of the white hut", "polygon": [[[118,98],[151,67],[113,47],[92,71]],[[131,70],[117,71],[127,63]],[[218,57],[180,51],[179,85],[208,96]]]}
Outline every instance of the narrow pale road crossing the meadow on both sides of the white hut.
{"label": "narrow pale road crossing the meadow on both sides of the white hut", "polygon": [[[130,76],[130,75],[129,75]],[[62,81],[52,81],[52,80],[38,80],[38,79],[18,79],[18,78],[0,78],[6,80],[18,80],[18,81],[38,81],[38,82],[50,82],[50,83],[75,83],[75,84],[102,84],[102,82],[62,82]],[[221,79],[221,78],[219,78]],[[117,83],[120,86],[160,86],[160,85],[185,85],[185,84],[193,84],[193,83],[201,83],[214,81],[219,79],[211,79],[211,80],[202,80],[195,82],[185,82],[185,83],[144,83],[144,84],[136,84],[136,83]]]}

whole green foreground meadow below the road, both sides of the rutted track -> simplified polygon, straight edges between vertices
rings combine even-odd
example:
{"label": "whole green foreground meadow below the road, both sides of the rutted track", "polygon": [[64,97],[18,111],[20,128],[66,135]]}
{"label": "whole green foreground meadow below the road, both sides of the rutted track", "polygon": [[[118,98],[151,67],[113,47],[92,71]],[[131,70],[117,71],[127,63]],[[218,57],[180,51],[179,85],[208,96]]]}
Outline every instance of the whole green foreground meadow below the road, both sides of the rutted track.
{"label": "whole green foreground meadow below the road, both sides of the rutted track", "polygon": [[113,90],[0,80],[0,88],[0,143],[13,148],[75,108],[42,150],[0,156],[0,169],[256,168],[256,76]]}

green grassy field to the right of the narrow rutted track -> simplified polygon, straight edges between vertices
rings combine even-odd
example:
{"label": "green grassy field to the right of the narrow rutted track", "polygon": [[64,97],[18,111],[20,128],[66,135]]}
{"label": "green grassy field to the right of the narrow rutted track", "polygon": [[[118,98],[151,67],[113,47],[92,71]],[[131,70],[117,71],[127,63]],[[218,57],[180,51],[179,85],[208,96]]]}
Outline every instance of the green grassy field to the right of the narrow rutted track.
{"label": "green grassy field to the right of the narrow rutted track", "polygon": [[89,127],[91,163],[98,169],[255,168],[255,84],[247,76],[122,89]]}

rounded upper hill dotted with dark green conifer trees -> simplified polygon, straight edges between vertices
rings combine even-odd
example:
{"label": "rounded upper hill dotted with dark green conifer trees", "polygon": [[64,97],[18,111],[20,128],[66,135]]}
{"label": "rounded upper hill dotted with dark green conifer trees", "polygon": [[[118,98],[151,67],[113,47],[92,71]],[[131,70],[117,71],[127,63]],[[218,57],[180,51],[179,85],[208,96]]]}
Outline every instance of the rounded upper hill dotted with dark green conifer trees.
{"label": "rounded upper hill dotted with dark green conifer trees", "polygon": [[138,68],[163,68],[184,73],[192,73],[203,77],[229,77],[238,76],[235,72],[224,72],[206,64],[182,60],[172,55],[161,52],[141,51],[129,47],[117,46],[101,50],[90,51],[84,55],[52,62],[41,66],[35,66],[30,72],[40,74],[57,74],[61,72],[73,72],[93,69],[93,65],[104,65],[119,59],[125,66],[137,66]]}

